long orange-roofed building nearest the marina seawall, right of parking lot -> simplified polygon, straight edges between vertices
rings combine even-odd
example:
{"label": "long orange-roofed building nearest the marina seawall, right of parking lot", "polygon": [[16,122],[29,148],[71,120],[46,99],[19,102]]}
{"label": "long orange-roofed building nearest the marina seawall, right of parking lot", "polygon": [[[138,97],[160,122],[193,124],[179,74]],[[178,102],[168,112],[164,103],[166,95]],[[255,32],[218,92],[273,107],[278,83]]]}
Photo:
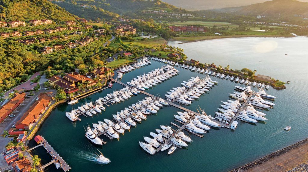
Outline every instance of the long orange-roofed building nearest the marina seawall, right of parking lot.
{"label": "long orange-roofed building nearest the marina seawall, right of parking lot", "polygon": [[39,119],[39,116],[43,114],[49,106],[52,100],[51,94],[52,92],[40,93],[38,100],[36,100],[29,110],[16,122],[16,129],[30,130],[33,124]]}

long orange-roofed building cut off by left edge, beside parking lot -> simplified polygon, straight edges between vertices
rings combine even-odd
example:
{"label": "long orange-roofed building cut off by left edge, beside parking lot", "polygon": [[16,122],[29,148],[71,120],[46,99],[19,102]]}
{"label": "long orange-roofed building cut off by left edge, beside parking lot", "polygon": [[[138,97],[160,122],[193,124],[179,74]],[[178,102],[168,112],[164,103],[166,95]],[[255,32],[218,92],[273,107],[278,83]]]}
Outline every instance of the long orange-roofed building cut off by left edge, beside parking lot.
{"label": "long orange-roofed building cut off by left edge, beside parking lot", "polygon": [[0,107],[0,122],[2,122],[9,114],[11,114],[24,100],[26,94],[16,94],[15,97],[7,101],[2,107]]}

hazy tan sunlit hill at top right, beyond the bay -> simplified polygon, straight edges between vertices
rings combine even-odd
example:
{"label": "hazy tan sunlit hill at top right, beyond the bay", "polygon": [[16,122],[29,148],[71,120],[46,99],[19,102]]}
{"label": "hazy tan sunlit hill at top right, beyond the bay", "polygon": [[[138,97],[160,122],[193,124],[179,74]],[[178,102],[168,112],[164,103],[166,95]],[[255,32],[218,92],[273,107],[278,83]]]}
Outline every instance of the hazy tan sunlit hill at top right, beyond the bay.
{"label": "hazy tan sunlit hill at top right, beyond the bay", "polygon": [[307,15],[308,3],[295,0],[273,0],[244,6],[239,9],[240,14],[254,14],[264,16],[293,16],[294,14]]}

